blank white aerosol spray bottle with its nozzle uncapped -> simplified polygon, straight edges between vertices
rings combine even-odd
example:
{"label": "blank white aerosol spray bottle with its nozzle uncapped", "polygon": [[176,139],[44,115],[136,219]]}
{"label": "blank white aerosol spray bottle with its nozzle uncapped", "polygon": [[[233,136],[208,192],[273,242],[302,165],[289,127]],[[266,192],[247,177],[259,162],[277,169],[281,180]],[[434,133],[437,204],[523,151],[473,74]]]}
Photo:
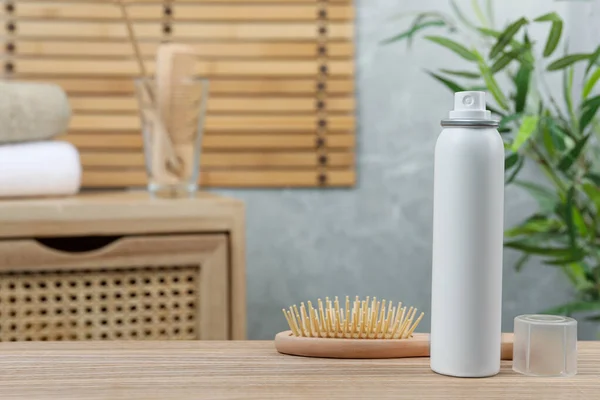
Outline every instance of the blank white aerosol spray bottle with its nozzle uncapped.
{"label": "blank white aerosol spray bottle with its nozzle uncapped", "polygon": [[434,372],[500,370],[504,145],[484,92],[454,95],[435,147],[430,362]]}

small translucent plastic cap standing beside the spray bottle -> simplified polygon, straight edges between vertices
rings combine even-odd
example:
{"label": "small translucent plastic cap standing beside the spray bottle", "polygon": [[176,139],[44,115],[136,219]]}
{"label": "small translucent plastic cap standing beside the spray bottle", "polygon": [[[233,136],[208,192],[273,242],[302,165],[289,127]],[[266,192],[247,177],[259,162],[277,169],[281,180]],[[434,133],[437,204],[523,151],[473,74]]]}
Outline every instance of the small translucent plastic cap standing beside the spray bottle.
{"label": "small translucent plastic cap standing beside the spray bottle", "polygon": [[515,318],[513,370],[530,376],[577,373],[577,321],[557,315]]}

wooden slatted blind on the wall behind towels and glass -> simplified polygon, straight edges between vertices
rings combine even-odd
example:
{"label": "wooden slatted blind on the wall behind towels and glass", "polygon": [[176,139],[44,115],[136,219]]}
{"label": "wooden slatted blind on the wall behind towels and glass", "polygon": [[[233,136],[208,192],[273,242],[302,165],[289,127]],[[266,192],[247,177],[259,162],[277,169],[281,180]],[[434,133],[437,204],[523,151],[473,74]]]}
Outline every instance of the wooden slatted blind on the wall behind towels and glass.
{"label": "wooden slatted blind on the wall behind towels and glass", "polygon": [[[201,185],[355,182],[351,0],[125,0],[152,73],[161,41],[198,55],[210,99]],[[113,0],[2,0],[5,78],[53,82],[89,188],[146,182],[133,58]]]}

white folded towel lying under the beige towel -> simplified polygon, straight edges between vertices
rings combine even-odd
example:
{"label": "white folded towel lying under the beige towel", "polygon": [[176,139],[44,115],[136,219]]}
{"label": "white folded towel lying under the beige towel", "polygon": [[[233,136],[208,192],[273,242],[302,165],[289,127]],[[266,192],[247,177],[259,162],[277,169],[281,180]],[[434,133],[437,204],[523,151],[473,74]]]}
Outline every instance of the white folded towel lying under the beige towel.
{"label": "white folded towel lying under the beige towel", "polygon": [[81,186],[79,152],[47,141],[0,146],[0,197],[72,195]]}

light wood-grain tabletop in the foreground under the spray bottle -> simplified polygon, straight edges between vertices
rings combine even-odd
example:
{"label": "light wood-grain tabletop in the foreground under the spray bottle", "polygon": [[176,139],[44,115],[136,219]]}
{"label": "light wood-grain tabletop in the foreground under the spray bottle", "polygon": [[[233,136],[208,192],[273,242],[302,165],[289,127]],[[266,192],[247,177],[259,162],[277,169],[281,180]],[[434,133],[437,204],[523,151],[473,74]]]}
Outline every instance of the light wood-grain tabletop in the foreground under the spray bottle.
{"label": "light wood-grain tabletop in the foreground under the spray bottle", "polygon": [[0,343],[0,399],[600,399],[600,342],[572,378],[436,375],[428,358],[327,360],[273,342]]}

